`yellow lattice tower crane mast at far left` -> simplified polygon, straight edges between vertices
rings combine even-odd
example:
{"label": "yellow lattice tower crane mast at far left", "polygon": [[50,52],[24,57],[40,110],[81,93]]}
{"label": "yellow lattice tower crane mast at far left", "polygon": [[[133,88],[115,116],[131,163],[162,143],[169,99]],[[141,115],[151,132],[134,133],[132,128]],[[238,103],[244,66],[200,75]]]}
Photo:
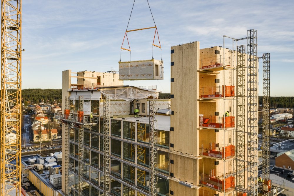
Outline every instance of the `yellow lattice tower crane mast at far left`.
{"label": "yellow lattice tower crane mast at far left", "polygon": [[21,0],[1,0],[1,196],[21,195],[21,52]]}

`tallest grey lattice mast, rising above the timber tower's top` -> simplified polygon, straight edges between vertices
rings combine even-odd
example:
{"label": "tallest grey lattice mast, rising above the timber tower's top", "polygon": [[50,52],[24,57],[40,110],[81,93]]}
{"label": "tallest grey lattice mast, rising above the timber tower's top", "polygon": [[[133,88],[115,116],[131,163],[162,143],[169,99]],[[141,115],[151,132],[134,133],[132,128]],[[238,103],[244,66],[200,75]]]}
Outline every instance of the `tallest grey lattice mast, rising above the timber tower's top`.
{"label": "tallest grey lattice mast, rising above the timber tower's top", "polygon": [[258,177],[258,77],[257,77],[257,31],[247,31],[247,104],[248,104],[248,195],[257,195]]}

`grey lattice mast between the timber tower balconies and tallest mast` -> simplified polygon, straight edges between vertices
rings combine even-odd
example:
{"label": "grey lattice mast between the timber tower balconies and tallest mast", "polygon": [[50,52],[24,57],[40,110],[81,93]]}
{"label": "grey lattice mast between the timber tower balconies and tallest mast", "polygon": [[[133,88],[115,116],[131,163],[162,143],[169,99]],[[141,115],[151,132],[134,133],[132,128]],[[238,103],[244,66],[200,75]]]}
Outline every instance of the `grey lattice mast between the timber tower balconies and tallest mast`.
{"label": "grey lattice mast between the timber tower balconies and tallest mast", "polygon": [[245,46],[237,47],[236,189],[245,190]]}

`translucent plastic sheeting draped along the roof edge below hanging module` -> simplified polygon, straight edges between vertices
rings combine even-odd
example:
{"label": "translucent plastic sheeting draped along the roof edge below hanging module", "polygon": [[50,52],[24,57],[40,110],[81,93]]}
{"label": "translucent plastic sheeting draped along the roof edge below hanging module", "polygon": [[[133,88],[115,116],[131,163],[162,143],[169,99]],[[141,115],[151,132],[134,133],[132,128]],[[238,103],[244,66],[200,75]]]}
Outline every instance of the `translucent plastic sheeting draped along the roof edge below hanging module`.
{"label": "translucent plastic sheeting draped along the roof edge below hanging module", "polygon": [[146,99],[148,97],[158,98],[160,91],[141,89],[138,87],[124,87],[113,89],[100,89],[100,92],[106,96],[109,95],[110,99],[122,99],[125,101],[133,101],[134,99]]}

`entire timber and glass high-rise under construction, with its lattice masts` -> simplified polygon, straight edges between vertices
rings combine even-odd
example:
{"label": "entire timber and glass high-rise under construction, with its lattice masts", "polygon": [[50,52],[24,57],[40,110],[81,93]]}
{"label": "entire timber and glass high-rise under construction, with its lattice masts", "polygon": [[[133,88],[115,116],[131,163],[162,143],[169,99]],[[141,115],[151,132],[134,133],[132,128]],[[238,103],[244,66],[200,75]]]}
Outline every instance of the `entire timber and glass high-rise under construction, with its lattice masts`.
{"label": "entire timber and glass high-rise under construction, with its lattice masts", "polygon": [[[283,192],[269,179],[266,124],[258,180],[257,35],[247,33],[229,38],[235,49],[172,46],[169,100],[153,86],[123,86],[115,72],[64,71],[64,112],[56,114],[64,123],[61,195]],[[268,53],[263,67],[266,119]]]}

